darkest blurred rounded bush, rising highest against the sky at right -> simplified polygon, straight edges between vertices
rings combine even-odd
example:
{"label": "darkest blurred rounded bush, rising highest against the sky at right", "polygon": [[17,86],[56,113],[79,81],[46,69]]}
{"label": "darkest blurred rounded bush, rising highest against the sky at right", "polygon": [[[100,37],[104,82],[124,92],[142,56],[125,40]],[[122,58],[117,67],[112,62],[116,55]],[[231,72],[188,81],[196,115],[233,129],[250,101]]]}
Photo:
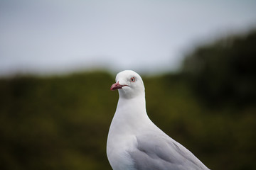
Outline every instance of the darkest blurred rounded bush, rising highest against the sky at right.
{"label": "darkest blurred rounded bush, rising highest against the sky at right", "polygon": [[256,30],[196,48],[183,73],[196,94],[210,105],[247,106],[256,101]]}

